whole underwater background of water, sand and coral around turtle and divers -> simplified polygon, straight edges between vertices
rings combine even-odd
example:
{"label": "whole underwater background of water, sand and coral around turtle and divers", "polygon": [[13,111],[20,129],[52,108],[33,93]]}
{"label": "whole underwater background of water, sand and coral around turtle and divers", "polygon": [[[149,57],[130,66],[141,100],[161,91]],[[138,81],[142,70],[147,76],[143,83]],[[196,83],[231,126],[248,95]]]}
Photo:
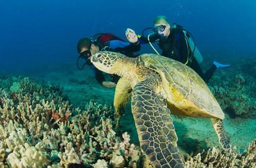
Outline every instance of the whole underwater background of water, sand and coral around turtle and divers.
{"label": "whole underwater background of water, sand and coral around turtle and divers", "polygon": [[[126,28],[141,34],[164,15],[193,34],[204,70],[231,64],[207,84],[236,149],[220,150],[211,121],[173,116],[186,167],[256,167],[255,11],[253,0],[1,1],[0,166],[27,163],[32,151],[44,159],[27,167],[143,167],[130,104],[112,128],[114,89],[99,85],[90,67],[77,69],[77,41],[99,32],[126,40]],[[153,49],[142,45],[142,53]]]}

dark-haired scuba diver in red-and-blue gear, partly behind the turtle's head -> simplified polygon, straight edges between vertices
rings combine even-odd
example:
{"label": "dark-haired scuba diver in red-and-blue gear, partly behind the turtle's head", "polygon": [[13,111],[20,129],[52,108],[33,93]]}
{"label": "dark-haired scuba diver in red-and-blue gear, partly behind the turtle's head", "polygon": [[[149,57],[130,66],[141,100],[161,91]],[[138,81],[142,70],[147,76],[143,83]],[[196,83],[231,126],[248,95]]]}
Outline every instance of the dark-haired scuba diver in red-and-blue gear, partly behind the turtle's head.
{"label": "dark-haired scuba diver in red-and-blue gear, partly behind the turtle's head", "polygon": [[[129,32],[126,35],[129,37],[133,37],[134,32]],[[134,42],[134,41],[133,41]],[[123,41],[120,37],[115,36],[110,33],[100,33],[96,34],[90,38],[82,38],[79,39],[77,43],[77,52],[79,52],[79,57],[77,58],[77,68],[79,70],[83,70],[85,65],[90,65],[94,69],[95,78],[99,84],[106,88],[116,87],[116,83],[120,78],[117,75],[110,75],[110,81],[105,79],[103,72],[98,70],[92,63],[90,62],[90,58],[92,54],[95,54],[98,51],[113,51],[120,52],[125,54],[126,56],[134,57],[133,52],[140,50],[140,43],[135,41],[134,43],[129,43]],[[79,61],[84,59],[83,65],[79,65]]]}

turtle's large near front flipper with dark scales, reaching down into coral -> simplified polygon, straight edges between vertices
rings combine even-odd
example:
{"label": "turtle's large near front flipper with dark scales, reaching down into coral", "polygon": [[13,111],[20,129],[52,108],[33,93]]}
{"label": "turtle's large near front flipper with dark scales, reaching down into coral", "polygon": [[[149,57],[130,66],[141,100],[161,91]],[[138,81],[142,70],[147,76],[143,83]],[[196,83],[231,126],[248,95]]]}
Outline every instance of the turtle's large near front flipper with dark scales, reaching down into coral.
{"label": "turtle's large near front flipper with dark scales, reaching down into coral", "polygon": [[177,136],[166,102],[146,79],[133,89],[132,111],[140,147],[153,167],[181,168],[183,162],[177,148]]}

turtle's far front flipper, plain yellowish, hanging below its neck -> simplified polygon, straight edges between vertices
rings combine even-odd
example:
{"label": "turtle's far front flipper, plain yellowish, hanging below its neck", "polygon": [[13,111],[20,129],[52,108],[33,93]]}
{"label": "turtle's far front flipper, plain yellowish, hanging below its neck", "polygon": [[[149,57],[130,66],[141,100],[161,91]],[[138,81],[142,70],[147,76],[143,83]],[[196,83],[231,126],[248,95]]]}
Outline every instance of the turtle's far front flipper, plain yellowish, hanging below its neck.
{"label": "turtle's far front flipper, plain yellowish, hanging below its neck", "polygon": [[114,109],[116,110],[116,127],[119,126],[120,117],[125,110],[125,105],[131,98],[131,83],[125,78],[120,78],[114,94]]}

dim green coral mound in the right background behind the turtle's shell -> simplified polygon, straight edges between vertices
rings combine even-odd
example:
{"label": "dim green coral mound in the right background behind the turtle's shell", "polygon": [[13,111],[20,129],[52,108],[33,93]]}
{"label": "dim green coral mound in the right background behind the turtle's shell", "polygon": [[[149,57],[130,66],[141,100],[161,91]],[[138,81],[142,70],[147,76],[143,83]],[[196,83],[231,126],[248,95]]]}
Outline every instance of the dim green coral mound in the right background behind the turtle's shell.
{"label": "dim green coral mound in the right background behind the turtle's shell", "polygon": [[252,91],[255,89],[255,80],[239,72],[233,73],[235,76],[222,73],[214,76],[210,83],[210,89],[222,109],[234,117],[255,118],[256,98]]}

